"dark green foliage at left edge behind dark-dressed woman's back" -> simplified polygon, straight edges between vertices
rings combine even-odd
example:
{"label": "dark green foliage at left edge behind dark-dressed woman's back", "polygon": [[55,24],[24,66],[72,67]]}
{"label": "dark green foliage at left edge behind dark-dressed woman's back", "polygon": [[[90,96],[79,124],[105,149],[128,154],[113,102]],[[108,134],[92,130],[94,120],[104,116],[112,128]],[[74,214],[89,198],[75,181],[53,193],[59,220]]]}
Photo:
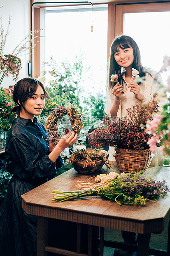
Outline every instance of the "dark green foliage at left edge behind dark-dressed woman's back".
{"label": "dark green foliage at left edge behind dark-dressed woman's back", "polygon": [[12,175],[7,172],[7,165],[9,164],[9,158],[7,155],[2,156],[0,159],[0,203],[5,197],[7,187]]}

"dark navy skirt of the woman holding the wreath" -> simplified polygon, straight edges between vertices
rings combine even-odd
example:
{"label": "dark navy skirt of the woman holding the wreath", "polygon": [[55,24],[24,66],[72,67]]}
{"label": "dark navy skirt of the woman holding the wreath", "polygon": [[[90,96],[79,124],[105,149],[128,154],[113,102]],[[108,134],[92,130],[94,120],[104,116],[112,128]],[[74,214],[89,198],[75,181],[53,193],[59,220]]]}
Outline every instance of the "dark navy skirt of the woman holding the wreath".
{"label": "dark navy skirt of the woman holding the wreath", "polygon": [[11,178],[0,207],[0,255],[37,256],[37,216],[22,209],[21,195],[40,183]]}

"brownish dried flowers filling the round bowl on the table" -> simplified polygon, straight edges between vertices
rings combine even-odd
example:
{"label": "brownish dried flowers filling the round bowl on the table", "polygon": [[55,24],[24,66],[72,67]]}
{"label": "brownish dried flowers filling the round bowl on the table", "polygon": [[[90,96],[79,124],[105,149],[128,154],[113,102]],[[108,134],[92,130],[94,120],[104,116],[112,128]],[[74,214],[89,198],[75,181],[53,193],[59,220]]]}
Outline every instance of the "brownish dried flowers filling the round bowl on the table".
{"label": "brownish dried flowers filling the round bowl on the table", "polygon": [[96,166],[95,162],[99,160],[104,161],[107,168],[112,168],[112,164],[105,157],[105,152],[101,149],[96,149],[92,152],[88,152],[86,149],[77,149],[69,157],[68,162],[84,161],[83,168],[85,168],[87,166]]}

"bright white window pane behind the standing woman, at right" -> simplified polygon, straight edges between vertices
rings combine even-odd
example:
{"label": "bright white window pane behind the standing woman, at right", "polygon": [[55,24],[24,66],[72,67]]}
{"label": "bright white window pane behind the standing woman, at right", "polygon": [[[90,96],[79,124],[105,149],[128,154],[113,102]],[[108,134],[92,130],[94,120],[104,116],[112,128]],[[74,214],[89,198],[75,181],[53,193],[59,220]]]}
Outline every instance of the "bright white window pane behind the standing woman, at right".
{"label": "bright white window pane behind the standing woman, at right", "polygon": [[[141,52],[142,65],[159,71],[163,57],[170,56],[170,12],[124,14],[123,34],[131,36]],[[166,74],[162,74],[166,83]]]}

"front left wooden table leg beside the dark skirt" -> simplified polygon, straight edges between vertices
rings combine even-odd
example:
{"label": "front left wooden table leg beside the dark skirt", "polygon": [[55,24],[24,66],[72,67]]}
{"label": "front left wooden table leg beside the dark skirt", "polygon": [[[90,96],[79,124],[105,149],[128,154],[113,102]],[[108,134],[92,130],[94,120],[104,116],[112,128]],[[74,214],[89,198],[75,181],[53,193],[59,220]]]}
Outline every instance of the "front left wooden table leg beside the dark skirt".
{"label": "front left wooden table leg beside the dark skirt", "polygon": [[45,247],[48,239],[48,219],[37,217],[37,256],[47,256]]}

